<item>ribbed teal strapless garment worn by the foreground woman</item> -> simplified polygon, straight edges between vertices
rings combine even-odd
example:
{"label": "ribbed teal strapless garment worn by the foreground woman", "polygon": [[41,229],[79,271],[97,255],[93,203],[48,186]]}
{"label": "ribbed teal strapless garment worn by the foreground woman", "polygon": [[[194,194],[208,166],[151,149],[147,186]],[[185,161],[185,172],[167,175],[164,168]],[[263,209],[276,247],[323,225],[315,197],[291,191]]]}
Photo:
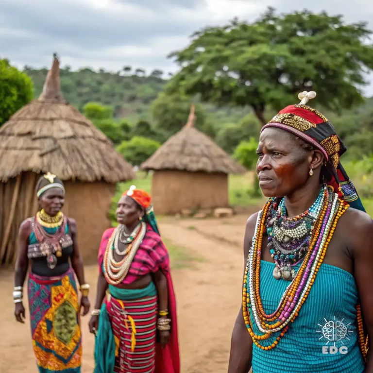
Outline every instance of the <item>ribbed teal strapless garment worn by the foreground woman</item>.
{"label": "ribbed teal strapless garment worn by the foreground woman", "polygon": [[[289,285],[273,277],[274,266],[261,261],[260,296],[267,314],[276,310]],[[363,373],[356,303],[357,289],[351,273],[322,264],[299,316],[289,323],[278,345],[268,351],[253,346],[253,373]],[[255,333],[262,334],[253,326]],[[262,344],[266,345],[265,341]],[[330,354],[330,346],[334,351],[337,347],[338,352]],[[347,353],[339,352],[341,346],[347,347]],[[328,354],[323,354],[323,349]]]}

